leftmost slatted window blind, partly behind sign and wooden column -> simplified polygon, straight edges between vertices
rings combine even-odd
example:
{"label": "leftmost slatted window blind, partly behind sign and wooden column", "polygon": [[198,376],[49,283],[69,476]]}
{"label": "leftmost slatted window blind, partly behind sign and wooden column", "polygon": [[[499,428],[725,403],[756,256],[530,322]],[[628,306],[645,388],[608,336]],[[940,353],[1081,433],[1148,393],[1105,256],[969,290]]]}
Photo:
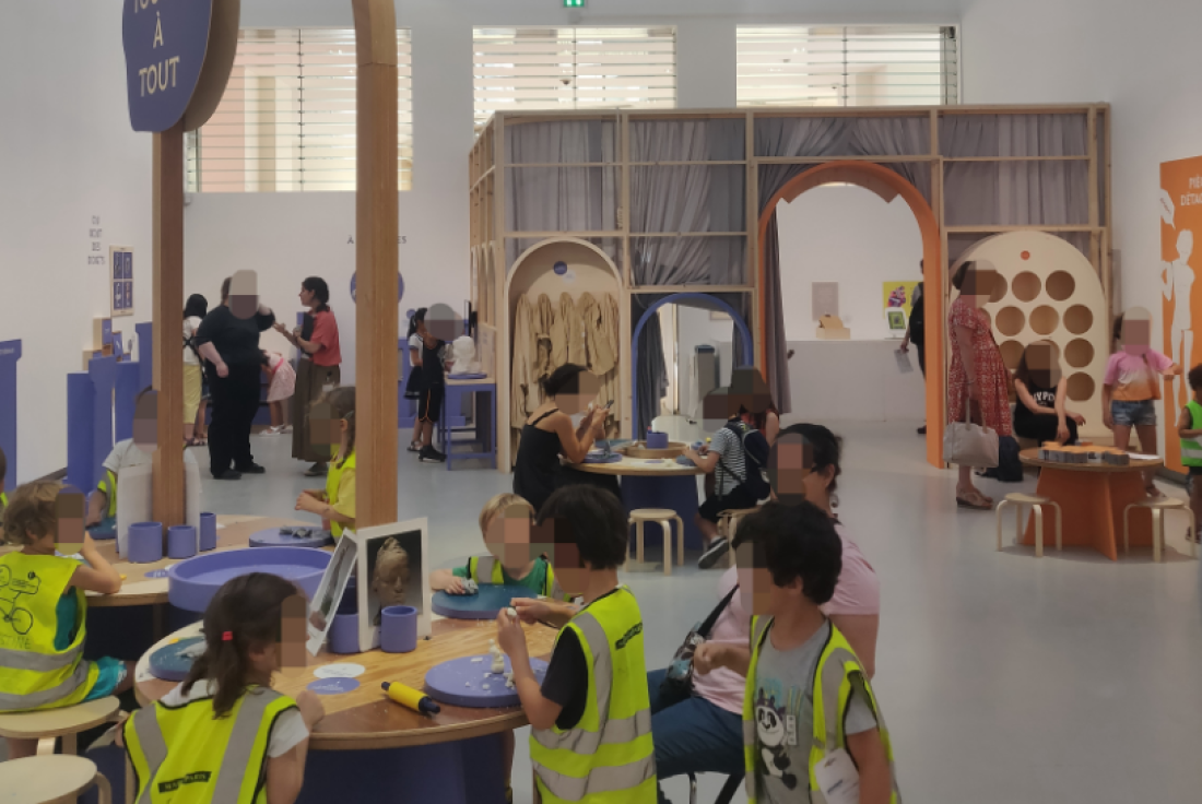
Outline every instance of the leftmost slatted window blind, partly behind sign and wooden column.
{"label": "leftmost slatted window blind, partly behind sign and wooden column", "polygon": [[[399,184],[413,171],[410,32],[397,31]],[[355,30],[243,29],[213,118],[188,138],[192,192],[355,190]]]}

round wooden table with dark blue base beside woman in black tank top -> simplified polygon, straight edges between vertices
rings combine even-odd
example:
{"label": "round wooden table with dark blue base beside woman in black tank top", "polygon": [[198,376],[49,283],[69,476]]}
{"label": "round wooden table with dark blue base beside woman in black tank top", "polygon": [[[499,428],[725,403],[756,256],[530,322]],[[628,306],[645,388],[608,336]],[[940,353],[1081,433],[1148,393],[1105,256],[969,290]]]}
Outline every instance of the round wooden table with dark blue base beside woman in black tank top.
{"label": "round wooden table with dark blue base beside woman in black tank top", "polygon": [[[676,458],[659,460],[621,457],[612,464],[565,464],[578,472],[612,475],[621,478],[621,502],[626,513],[636,508],[671,508],[684,522],[686,548],[702,548],[701,531],[692,518],[697,513],[697,476],[704,475],[696,466],[683,466]],[[660,526],[647,523],[647,538],[655,543]]]}

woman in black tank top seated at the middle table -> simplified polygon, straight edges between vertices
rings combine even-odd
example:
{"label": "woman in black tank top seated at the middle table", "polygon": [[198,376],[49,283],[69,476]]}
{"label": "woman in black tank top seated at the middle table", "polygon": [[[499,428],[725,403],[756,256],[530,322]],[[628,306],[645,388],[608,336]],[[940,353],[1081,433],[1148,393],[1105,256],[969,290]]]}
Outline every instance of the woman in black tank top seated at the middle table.
{"label": "woman in black tank top seated at the middle table", "polygon": [[[582,381],[583,380],[583,381]],[[572,428],[571,416],[585,409],[596,398],[596,377],[584,367],[567,363],[555,369],[542,383],[547,401],[538,406],[522,428],[517,461],[513,465],[513,493],[535,507],[542,504],[560,484],[563,471],[559,457],[578,464],[589,454],[597,437],[605,435],[608,410],[596,407],[584,415],[578,428]]]}

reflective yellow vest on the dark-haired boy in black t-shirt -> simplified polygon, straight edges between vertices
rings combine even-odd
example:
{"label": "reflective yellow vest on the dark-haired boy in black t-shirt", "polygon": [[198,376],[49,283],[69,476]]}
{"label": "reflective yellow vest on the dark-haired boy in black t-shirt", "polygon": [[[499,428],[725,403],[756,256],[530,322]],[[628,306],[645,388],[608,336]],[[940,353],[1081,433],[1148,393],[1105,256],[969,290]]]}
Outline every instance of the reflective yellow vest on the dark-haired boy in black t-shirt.
{"label": "reflective yellow vest on the dark-haired boy in black t-shirt", "polygon": [[530,732],[530,761],[542,802],[655,804],[651,704],[638,601],[619,586],[584,607],[567,629],[576,632],[589,657],[588,704],[581,721],[567,731],[554,726]]}

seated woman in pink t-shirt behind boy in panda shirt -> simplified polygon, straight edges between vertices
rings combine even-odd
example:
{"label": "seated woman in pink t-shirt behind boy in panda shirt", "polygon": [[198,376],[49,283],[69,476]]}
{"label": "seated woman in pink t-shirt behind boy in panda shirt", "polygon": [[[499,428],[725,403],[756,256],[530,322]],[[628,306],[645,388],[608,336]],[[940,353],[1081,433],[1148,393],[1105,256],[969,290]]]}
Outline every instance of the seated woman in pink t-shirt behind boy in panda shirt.
{"label": "seated woman in pink t-shirt behind boy in panda shirt", "polygon": [[[801,433],[810,443],[805,499],[834,517],[831,494],[839,476],[839,441],[825,427],[798,424],[781,430],[784,437]],[[778,439],[779,441],[779,439]],[[876,663],[876,631],[880,624],[881,590],[876,572],[859,547],[835,524],[843,542],[843,570],[834,596],[822,607],[831,621],[851,643],[864,669],[873,675]],[[734,538],[738,542],[738,537]],[[715,602],[722,601],[738,584],[738,570],[731,567],[718,582]],[[751,615],[736,592],[719,614],[708,643],[746,647],[751,641]],[[656,775],[661,779],[686,773],[742,774],[743,695],[746,679],[720,667],[708,674],[695,673],[692,695],[662,695],[666,671],[647,674],[651,699],[651,734],[655,744]],[[667,802],[660,791],[660,802]]]}

